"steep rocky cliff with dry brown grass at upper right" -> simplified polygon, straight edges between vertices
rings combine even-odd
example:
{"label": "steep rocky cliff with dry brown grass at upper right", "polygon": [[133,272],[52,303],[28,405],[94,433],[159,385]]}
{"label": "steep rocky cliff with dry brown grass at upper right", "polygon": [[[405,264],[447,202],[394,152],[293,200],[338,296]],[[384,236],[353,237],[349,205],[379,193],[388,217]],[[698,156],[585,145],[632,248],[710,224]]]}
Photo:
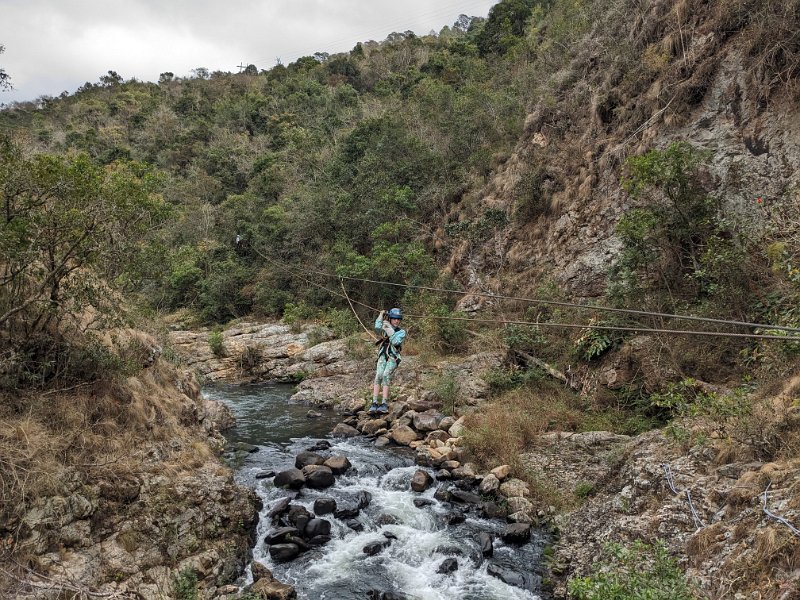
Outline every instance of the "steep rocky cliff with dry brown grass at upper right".
{"label": "steep rocky cliff with dry brown grass at upper right", "polygon": [[547,276],[576,296],[603,294],[616,223],[633,205],[624,161],[674,141],[710,152],[705,187],[727,217],[758,227],[764,206],[798,203],[796,2],[593,4],[571,47],[542,46],[523,137],[457,208],[500,209],[512,223],[454,254],[465,280],[524,289]]}

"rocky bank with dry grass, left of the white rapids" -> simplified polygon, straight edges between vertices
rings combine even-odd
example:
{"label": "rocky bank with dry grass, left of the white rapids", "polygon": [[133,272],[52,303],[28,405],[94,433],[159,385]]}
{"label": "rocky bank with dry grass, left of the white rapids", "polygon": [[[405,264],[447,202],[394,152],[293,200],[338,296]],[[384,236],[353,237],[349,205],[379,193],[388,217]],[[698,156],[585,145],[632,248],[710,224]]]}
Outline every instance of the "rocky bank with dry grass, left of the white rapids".
{"label": "rocky bank with dry grass, left of the white rapids", "polygon": [[172,598],[187,577],[235,591],[258,500],[217,457],[196,380],[137,338],[134,376],[4,403],[3,597]]}

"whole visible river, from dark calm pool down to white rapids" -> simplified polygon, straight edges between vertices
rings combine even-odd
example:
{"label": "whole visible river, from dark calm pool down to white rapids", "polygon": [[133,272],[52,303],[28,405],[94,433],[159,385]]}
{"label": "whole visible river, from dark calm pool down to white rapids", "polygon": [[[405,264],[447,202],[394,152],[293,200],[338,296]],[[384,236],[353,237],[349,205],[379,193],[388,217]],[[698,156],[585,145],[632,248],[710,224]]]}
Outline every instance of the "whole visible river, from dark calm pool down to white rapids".
{"label": "whole visible river, from dark calm pool down to white rapids", "polygon": [[[339,418],[328,413],[309,419],[308,407],[288,403],[291,386],[214,386],[204,389],[204,394],[225,402],[236,415],[238,424],[229,432],[229,441],[258,447],[255,452],[239,453],[237,470],[237,481],[254,488],[264,503],[253,560],[266,565],[278,580],[295,586],[298,598],[536,600],[542,597],[536,573],[540,571],[544,536],[534,532],[531,541],[523,546],[506,545],[499,536],[505,522],[480,518],[473,512],[466,513],[464,522],[450,524],[459,507],[435,500],[436,485],[421,494],[411,491],[411,476],[422,467],[414,465],[408,449],[378,449],[365,438],[329,438],[327,433]],[[271,478],[263,478],[271,471],[294,467],[299,452],[323,439],[331,447],[320,451],[321,454],[344,455],[353,464],[347,473],[336,478],[333,487],[303,488],[297,495],[274,487]],[[433,475],[432,470],[426,470]],[[290,496],[293,504],[313,512],[317,498],[334,498],[340,508],[349,507],[357,504],[365,491],[371,494],[371,502],[348,524],[330,514],[323,516],[332,524],[330,542],[288,563],[272,560],[264,543],[264,536],[273,529],[267,514],[281,499]],[[420,499],[430,504],[418,507],[424,503]],[[482,531],[495,536],[491,558],[482,557],[477,541]],[[386,542],[387,538],[391,538],[390,543],[380,553],[374,556],[364,553],[370,542]],[[440,573],[443,561],[448,558],[457,561],[457,569]],[[508,585],[490,574],[498,570],[511,574],[516,585]],[[242,583],[249,581],[248,578]]]}

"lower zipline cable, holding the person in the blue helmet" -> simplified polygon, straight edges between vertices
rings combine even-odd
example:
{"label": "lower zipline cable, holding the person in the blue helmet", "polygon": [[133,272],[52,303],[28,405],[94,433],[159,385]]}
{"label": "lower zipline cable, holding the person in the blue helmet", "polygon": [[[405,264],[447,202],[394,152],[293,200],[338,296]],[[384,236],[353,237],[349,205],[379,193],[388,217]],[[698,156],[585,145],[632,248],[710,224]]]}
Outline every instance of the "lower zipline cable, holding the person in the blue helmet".
{"label": "lower zipline cable, holding the person in the blue helmet", "polygon": [[[358,300],[350,299],[349,295],[347,295],[346,291],[345,294],[340,294],[334,290],[331,290],[325,287],[322,284],[316,283],[308,279],[305,275],[297,272],[295,269],[291,267],[287,267],[286,265],[280,264],[278,261],[264,255],[260,252],[257,248],[254,248],[256,254],[261,256],[264,260],[269,262],[270,264],[278,267],[279,269],[294,275],[295,277],[305,281],[306,283],[313,285],[319,289],[322,289],[333,296],[337,296],[339,298],[343,298],[352,304],[357,304],[364,308],[367,308],[374,312],[380,312],[380,309],[370,306],[369,304],[364,304],[363,302],[359,302]],[[321,271],[316,271],[315,269],[307,269],[311,273],[321,274]],[[328,274],[325,274],[328,275]],[[340,280],[344,279],[355,279],[360,281],[359,278],[353,277],[340,277]],[[370,281],[370,280],[365,280]],[[401,284],[396,284],[401,285]],[[404,287],[419,287],[419,286],[404,286]],[[344,290],[344,284],[342,284],[342,289]],[[463,293],[463,292],[462,292]],[[351,306],[352,308],[352,306]],[[355,311],[354,311],[355,312]],[[446,320],[446,321],[463,321],[467,323],[491,323],[495,325],[528,325],[528,326],[535,326],[535,327],[556,327],[556,328],[568,328],[568,329],[600,329],[604,331],[620,331],[620,332],[629,332],[629,333],[667,333],[667,334],[674,334],[674,335],[702,335],[702,336],[710,336],[710,337],[735,337],[735,338],[748,338],[748,339],[768,339],[768,340],[781,340],[784,342],[800,342],[800,336],[783,336],[783,335],[769,335],[769,334],[758,334],[758,333],[728,333],[722,331],[697,331],[697,330],[682,330],[682,329],[656,329],[656,328],[649,328],[649,327],[623,327],[623,326],[614,326],[614,325],[594,325],[591,323],[587,324],[579,324],[579,323],[554,323],[554,322],[540,322],[540,321],[520,321],[514,319],[479,319],[479,318],[467,318],[467,317],[449,317],[444,315],[416,315],[416,314],[406,314],[409,318],[414,319],[432,319],[432,320]],[[359,320],[360,321],[360,320]],[[364,327],[362,323],[362,327]],[[366,329],[366,327],[364,327]]]}

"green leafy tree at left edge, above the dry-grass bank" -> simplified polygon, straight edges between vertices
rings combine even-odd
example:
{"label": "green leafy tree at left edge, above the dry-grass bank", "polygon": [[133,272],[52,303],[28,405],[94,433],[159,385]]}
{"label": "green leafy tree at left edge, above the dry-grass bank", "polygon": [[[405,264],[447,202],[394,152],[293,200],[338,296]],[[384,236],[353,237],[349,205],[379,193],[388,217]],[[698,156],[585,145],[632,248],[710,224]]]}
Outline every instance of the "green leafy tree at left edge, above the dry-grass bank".
{"label": "green leafy tree at left edge, above the dry-grass bank", "polygon": [[86,155],[29,156],[0,139],[0,335],[47,330],[107,295],[165,214],[157,181],[138,163]]}

